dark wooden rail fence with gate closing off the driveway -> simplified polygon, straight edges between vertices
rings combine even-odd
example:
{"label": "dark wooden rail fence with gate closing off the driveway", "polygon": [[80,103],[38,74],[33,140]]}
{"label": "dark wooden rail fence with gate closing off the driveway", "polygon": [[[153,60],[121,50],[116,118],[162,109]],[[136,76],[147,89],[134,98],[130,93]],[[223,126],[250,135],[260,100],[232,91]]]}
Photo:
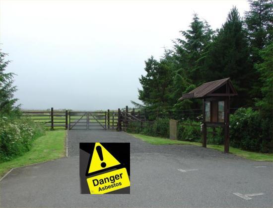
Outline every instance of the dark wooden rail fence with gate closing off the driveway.
{"label": "dark wooden rail fence with gate closing off the driveway", "polygon": [[[59,111],[52,107],[50,111],[23,111],[22,117],[29,117],[35,122],[43,123],[48,129],[86,129],[91,130],[94,127],[102,127],[108,130],[127,131],[128,128],[143,128],[154,123],[156,117],[170,118],[182,121],[190,118],[200,121],[199,116],[202,109],[182,110],[182,111],[148,111],[135,110],[129,111],[128,106],[124,110],[107,111]],[[133,125],[132,125],[133,124]],[[185,125],[197,125],[187,124]],[[80,128],[80,126],[82,128]],[[101,129],[102,129],[101,128]]]}

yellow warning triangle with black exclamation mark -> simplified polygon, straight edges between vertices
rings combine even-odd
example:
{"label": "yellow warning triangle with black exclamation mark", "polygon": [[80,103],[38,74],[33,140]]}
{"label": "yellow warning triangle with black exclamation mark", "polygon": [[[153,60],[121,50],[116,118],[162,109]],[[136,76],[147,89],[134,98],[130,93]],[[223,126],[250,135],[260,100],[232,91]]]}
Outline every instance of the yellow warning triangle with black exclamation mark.
{"label": "yellow warning triangle with black exclamation mark", "polygon": [[99,142],[96,142],[88,173],[93,173],[116,165],[120,165],[120,162]]}

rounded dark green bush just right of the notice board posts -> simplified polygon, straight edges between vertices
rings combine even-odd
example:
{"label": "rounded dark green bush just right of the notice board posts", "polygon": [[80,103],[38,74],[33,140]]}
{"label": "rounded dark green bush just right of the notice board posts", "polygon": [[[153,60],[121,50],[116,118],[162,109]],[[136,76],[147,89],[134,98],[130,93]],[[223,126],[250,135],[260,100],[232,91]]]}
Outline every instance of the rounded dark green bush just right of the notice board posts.
{"label": "rounded dark green bush just right of the notice board posts", "polygon": [[272,120],[259,111],[239,108],[230,116],[230,144],[256,152],[272,152]]}

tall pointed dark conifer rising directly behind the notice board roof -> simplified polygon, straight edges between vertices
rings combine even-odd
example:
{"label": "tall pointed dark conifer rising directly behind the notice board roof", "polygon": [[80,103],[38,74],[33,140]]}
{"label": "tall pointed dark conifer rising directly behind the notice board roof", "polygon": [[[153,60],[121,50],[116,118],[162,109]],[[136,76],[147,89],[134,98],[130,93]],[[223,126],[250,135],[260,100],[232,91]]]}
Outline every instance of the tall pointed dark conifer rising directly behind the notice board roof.
{"label": "tall pointed dark conifer rising directly behind the notice board roof", "polygon": [[239,94],[239,99],[233,102],[236,107],[251,102],[249,90],[254,79],[246,32],[242,26],[243,20],[237,8],[233,7],[205,54],[202,71],[206,81],[231,78]]}

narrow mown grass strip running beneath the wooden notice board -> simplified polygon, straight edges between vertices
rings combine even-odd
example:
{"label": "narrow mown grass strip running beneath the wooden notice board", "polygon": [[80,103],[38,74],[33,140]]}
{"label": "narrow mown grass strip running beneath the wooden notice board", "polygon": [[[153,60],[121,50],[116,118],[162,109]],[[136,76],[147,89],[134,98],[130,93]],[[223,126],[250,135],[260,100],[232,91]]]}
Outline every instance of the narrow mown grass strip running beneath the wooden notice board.
{"label": "narrow mown grass strip running beneath the wooden notice board", "polygon": [[[179,140],[170,140],[166,138],[161,138],[161,137],[153,137],[153,136],[147,136],[147,135],[142,135],[142,134],[131,134],[130,135],[141,139],[142,141],[145,141],[150,144],[186,144],[186,145],[197,145],[197,146],[202,146],[201,143],[198,142],[189,142],[189,141],[179,141]],[[213,145],[213,144],[207,144],[207,148],[219,150],[219,151],[224,151],[224,146],[223,145]],[[258,152],[249,152],[249,151],[244,151],[238,148],[230,147],[229,152],[246,158],[246,159],[251,159],[251,160],[256,160],[256,161],[270,161],[273,162],[273,154],[264,154],[264,153],[258,153]]]}

